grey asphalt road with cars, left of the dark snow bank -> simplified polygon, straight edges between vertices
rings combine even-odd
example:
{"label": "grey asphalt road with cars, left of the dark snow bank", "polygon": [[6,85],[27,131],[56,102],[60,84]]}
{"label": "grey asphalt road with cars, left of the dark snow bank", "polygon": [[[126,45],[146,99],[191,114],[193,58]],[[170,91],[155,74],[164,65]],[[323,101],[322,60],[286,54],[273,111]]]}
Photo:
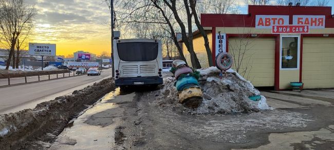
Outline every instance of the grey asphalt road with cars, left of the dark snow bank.
{"label": "grey asphalt road with cars, left of the dark snow bank", "polygon": [[[0,114],[34,108],[36,104],[53,100],[59,96],[68,95],[74,90],[82,89],[95,82],[111,77],[111,74],[112,69],[106,69],[102,70],[101,76],[78,76],[0,88]],[[61,77],[63,77],[62,75]],[[48,78],[48,76],[44,78]]]}

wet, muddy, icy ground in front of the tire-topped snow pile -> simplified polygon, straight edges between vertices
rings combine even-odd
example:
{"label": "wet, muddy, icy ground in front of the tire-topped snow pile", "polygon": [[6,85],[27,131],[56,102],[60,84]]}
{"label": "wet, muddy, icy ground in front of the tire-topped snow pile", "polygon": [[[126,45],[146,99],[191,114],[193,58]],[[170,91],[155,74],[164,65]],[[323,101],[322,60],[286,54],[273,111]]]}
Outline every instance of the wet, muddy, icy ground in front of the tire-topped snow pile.
{"label": "wet, muddy, icy ground in front of the tire-topped snow pile", "polygon": [[[135,93],[137,99],[120,105],[124,116],[112,149],[334,148],[333,96],[280,93],[281,97],[272,96],[281,101],[274,110],[195,115],[180,104],[159,103],[160,90]],[[270,97],[276,92],[265,93]],[[280,108],[284,102],[300,107]]]}

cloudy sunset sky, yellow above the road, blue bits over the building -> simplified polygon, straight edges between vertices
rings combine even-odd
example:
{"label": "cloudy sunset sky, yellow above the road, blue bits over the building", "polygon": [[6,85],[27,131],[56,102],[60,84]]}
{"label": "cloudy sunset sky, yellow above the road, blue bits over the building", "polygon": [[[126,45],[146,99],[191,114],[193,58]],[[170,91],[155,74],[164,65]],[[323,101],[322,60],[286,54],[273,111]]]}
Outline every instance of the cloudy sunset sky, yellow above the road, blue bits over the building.
{"label": "cloudy sunset sky, yellow above the road, blue bits over the building", "polygon": [[[29,42],[57,44],[57,55],[78,50],[97,55],[110,52],[110,13],[103,0],[28,0],[38,15]],[[247,13],[244,0],[236,0],[240,13]],[[274,1],[273,1],[274,4]],[[330,1],[329,6],[333,6]]]}

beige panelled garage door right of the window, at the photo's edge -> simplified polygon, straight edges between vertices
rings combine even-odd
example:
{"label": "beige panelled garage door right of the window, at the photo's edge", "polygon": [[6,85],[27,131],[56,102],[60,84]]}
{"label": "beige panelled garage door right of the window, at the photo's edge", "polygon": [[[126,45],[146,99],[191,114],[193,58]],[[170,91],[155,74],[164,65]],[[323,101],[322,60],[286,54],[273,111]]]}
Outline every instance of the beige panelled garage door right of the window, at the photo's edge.
{"label": "beige panelled garage door right of the window, at the photo's edge", "polygon": [[334,37],[304,37],[304,88],[334,87]]}

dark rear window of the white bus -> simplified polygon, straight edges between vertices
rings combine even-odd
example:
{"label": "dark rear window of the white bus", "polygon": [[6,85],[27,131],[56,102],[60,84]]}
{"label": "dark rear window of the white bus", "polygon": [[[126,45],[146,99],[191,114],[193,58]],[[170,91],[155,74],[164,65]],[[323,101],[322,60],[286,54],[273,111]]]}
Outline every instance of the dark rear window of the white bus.
{"label": "dark rear window of the white bus", "polygon": [[153,61],[158,57],[158,43],[127,42],[118,43],[119,58],[126,62]]}

